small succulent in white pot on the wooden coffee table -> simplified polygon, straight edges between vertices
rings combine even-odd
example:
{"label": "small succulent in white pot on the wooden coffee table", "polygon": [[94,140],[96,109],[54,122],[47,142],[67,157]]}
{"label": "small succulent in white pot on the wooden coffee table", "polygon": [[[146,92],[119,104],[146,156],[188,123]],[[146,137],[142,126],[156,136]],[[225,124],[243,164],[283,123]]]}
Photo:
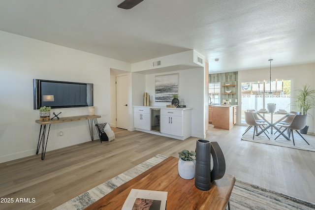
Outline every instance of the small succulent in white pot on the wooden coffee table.
{"label": "small succulent in white pot on the wooden coffee table", "polygon": [[178,174],[181,178],[185,180],[191,180],[195,176],[195,151],[183,150],[178,152]]}

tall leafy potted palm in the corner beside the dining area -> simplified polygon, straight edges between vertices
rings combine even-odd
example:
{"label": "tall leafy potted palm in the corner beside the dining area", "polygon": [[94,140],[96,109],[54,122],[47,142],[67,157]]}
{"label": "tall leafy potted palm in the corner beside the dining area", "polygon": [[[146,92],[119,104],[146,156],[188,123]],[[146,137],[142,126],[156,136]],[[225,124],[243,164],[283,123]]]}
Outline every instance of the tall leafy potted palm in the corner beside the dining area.
{"label": "tall leafy potted palm in the corner beside the dining area", "polygon": [[[295,104],[299,108],[301,115],[312,116],[309,110],[315,107],[315,90],[309,85],[304,85],[302,89],[297,89],[296,91]],[[306,134],[308,129],[309,126],[306,125],[300,132]]]}

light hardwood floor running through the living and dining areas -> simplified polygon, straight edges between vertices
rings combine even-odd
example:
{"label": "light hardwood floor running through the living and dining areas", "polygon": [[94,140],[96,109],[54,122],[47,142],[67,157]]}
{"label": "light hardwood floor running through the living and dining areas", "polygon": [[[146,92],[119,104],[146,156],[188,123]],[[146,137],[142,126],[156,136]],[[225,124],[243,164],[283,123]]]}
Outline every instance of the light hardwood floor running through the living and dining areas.
{"label": "light hardwood floor running through the living and dining areas", "polygon": [[[225,155],[226,173],[236,179],[315,203],[315,152],[241,141],[247,126],[231,130],[209,126],[208,140],[217,141]],[[162,154],[178,157],[194,150],[197,138],[185,141],[139,131],[113,128],[112,142],[86,142],[0,164],[1,210],[50,210],[96,185]],[[315,145],[315,136],[306,139]],[[16,203],[32,198],[34,203]]]}

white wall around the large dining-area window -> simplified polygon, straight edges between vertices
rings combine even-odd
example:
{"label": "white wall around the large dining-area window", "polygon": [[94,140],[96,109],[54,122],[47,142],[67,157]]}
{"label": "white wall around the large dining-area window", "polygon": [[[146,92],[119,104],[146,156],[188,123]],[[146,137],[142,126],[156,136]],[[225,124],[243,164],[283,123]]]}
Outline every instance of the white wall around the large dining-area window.
{"label": "white wall around the large dining-area window", "polygon": [[[253,69],[253,70],[246,70],[246,71],[239,71],[238,72],[238,84],[242,82],[249,82],[249,81],[266,81],[270,80],[269,75],[269,68],[263,69]],[[273,67],[271,66],[271,79],[284,79],[284,80],[292,80],[291,87],[293,90],[293,97],[296,96],[297,88],[303,88],[303,85],[307,84],[310,85],[311,88],[315,89],[315,63],[310,64],[301,64],[301,65],[291,65],[291,66],[281,66],[281,67]],[[238,92],[241,92],[241,87],[239,85]],[[238,100],[241,101],[241,94],[238,95]],[[291,103],[291,106],[293,104]],[[241,107],[239,106],[239,109]],[[297,111],[297,108],[292,107],[291,110]],[[240,113],[240,110],[238,110]],[[315,110],[312,110],[312,115],[315,117]],[[240,115],[238,116],[238,123],[240,123]],[[314,119],[312,117],[307,119],[307,124],[310,126],[309,131],[314,133],[315,131],[315,124]]]}

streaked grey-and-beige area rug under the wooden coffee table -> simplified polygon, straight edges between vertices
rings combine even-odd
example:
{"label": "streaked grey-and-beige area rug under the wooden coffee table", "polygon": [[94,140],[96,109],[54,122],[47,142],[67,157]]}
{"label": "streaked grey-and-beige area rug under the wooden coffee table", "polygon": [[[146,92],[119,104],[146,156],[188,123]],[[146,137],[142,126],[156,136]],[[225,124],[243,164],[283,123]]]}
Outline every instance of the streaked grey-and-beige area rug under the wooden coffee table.
{"label": "streaked grey-and-beige area rug under the wooden coffee table", "polygon": [[[166,156],[156,155],[132,169],[71,199],[55,210],[83,210],[128,180],[155,166]],[[230,197],[231,210],[314,210],[315,204],[236,180]]]}

